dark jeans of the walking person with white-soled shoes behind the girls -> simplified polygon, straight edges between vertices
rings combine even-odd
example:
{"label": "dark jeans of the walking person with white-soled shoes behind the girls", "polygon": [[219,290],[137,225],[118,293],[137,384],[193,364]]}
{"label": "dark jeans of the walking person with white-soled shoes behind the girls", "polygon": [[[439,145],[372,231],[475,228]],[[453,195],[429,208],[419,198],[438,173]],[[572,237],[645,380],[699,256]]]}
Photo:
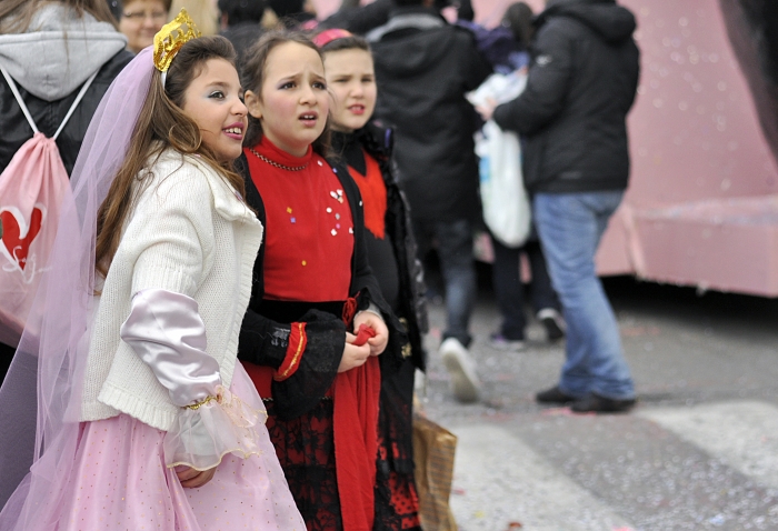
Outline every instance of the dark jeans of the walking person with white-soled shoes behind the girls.
{"label": "dark jeans of the walking person with white-soled shoes behind the girls", "polygon": [[413,220],[419,260],[437,243],[440,269],[446,284],[446,331],[443,339],[457,338],[465,347],[472,338],[468,332],[476,304],[476,263],[472,256],[472,223]]}

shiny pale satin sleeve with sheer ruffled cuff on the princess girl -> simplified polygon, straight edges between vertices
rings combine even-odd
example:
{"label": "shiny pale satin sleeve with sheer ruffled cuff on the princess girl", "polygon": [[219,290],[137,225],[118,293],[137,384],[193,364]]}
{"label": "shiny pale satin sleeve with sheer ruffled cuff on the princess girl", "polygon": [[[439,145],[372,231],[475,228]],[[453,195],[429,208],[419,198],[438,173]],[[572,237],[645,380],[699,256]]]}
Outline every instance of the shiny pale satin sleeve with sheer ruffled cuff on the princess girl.
{"label": "shiny pale satin sleeve with sheer ruffled cuff on the princess girl", "polygon": [[267,420],[265,408],[221,384],[219,364],[206,352],[197,301],[167,290],[139,291],[120,333],[180,407],[163,441],[167,467],[208,470],[228,453],[261,453],[255,427]]}

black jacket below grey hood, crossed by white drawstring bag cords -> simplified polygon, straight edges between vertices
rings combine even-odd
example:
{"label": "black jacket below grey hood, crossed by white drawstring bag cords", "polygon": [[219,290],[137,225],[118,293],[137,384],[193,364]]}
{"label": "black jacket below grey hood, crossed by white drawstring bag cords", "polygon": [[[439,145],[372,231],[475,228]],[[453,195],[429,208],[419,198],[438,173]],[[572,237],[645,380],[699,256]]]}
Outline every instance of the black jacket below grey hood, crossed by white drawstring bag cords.
{"label": "black jacket below grey hood, crossed by white drawstring bag cords", "polygon": [[[113,82],[113,78],[119,76],[121,69],[132,60],[132,53],[129,51],[121,50],[100,68],[94,81],[87,89],[87,93],[57,139],[57,148],[59,148],[68,174],[73,171],[83,136],[87,133],[89,122],[98,104],[100,104],[102,96]],[[61,100],[46,101],[30,94],[19,83],[17,83],[17,87],[27,108],[30,110],[30,114],[32,114],[36,126],[49,138],[54,134],[57,128],[62,123],[64,114],[79,92],[74,90]],[[0,171],[2,171],[11,162],[13,154],[19,148],[32,138],[32,129],[30,129],[30,124],[27,122],[19,103],[13,98],[11,88],[2,76],[0,76],[0,127],[2,128],[2,134],[0,134]]]}

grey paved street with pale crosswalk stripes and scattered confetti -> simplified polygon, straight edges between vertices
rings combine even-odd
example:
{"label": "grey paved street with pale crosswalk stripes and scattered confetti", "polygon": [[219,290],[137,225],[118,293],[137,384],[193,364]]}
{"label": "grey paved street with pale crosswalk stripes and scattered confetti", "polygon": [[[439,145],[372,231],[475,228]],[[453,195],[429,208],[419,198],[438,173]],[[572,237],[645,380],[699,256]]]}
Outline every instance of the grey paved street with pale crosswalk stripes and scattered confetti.
{"label": "grey paved street with pale crosswalk stripes and scattered confetti", "polygon": [[[482,401],[460,405],[430,305],[425,409],[459,437],[451,507],[460,531],[778,530],[778,302],[610,279],[640,402],[625,415],[541,408],[561,344],[533,323],[522,352],[472,348]],[[521,525],[519,528],[519,524]]]}

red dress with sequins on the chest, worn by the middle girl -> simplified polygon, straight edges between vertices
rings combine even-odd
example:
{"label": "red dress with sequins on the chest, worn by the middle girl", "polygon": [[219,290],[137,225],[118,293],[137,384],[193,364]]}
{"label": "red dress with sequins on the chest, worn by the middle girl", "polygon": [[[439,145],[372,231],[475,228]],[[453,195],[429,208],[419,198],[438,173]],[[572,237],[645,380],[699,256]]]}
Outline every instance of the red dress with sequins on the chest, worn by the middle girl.
{"label": "red dress with sequins on the chest, worn by the middle girl", "polygon": [[[336,171],[310,149],[293,157],[263,139],[245,156],[247,184],[260,204],[252,204],[251,193],[247,200],[261,210],[266,230],[262,300],[250,308],[290,331],[283,335],[279,328],[278,341],[286,341],[280,367],[243,364],[270,398],[268,431],[308,529],[369,531],[380,369],[376,358],[343,373],[336,363],[346,330],[338,318],[349,313],[343,302],[355,295],[355,206]],[[241,335],[252,333],[248,321],[243,329]],[[322,392],[309,405],[291,408],[285,385]]]}

